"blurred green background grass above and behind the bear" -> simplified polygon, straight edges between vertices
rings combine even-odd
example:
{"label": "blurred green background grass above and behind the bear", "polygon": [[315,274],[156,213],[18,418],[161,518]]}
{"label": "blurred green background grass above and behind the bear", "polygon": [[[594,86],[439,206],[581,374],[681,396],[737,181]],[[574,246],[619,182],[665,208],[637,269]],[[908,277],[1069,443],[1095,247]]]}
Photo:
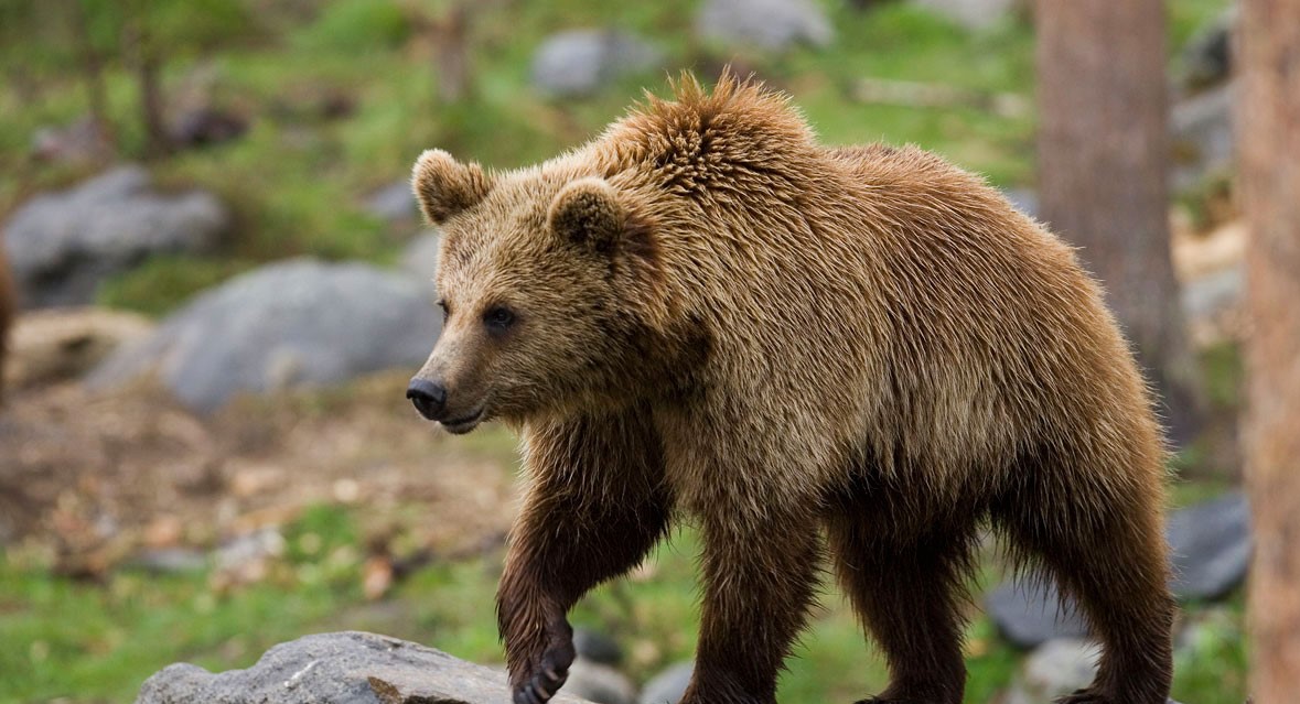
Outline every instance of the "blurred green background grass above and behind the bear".
{"label": "blurred green background grass above and behind the bear", "polygon": [[[202,70],[212,99],[252,119],[238,142],[157,161],[169,186],[216,191],[235,210],[237,227],[218,256],[239,265],[177,264],[130,273],[103,300],[150,313],[166,310],[214,273],[313,253],[328,258],[391,261],[400,238],[365,214],[367,192],[406,177],[420,149],[441,145],[498,168],[536,162],[597,134],[649,87],[664,92],[664,75],[734,60],[789,90],[828,143],[887,140],[933,149],[1002,186],[1034,178],[1032,110],[1000,117],[980,108],[933,109],[858,104],[854,81],[878,78],[939,83],[988,94],[1032,97],[1031,27],[1008,18],[978,32],[906,3],[854,12],[826,0],[836,26],[827,49],[797,48],[783,56],[736,55],[690,38],[692,0],[610,4],[590,0],[495,5],[474,23],[473,90],[456,105],[438,103],[434,56],[421,26],[441,4],[404,0],[333,0],[261,13],[248,36],[204,53],[177,51],[165,88],[183,94]],[[1171,52],[1213,18],[1226,0],[1175,0]],[[533,49],[549,32],[618,26],[654,40],[666,71],[629,77],[584,100],[546,100],[529,87]],[[66,70],[32,68],[29,81],[0,86],[0,214],[34,191],[66,184],[88,166],[48,168],[26,158],[32,130],[62,125],[86,110],[84,88]],[[120,68],[108,71],[109,113],[125,156],[143,145],[135,118],[135,86]],[[326,119],[318,104],[342,96],[351,114]],[[165,266],[165,265],[160,265]],[[177,279],[191,277],[191,286]]]}

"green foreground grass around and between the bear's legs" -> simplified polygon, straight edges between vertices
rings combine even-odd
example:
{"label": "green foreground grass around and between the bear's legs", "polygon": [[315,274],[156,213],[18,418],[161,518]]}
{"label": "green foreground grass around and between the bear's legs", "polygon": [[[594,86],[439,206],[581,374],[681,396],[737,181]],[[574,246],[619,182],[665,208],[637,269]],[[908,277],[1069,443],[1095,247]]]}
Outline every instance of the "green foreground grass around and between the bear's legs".
{"label": "green foreground grass around and between the bear's legs", "polygon": [[[368,603],[359,586],[359,526],[365,518],[356,508],[308,509],[286,526],[285,552],[266,579],[248,586],[220,586],[209,570],[120,570],[103,585],[73,582],[51,575],[39,555],[0,553],[0,672],[23,673],[0,678],[0,704],[130,701],[146,677],[170,662],[214,672],[244,668],[274,643],[344,629],[500,662],[491,597],[499,551],[437,562],[384,601]],[[638,682],[689,659],[699,625],[698,549],[693,530],[677,531],[633,577],[584,599],[572,622],[615,636],[628,653],[624,670]],[[979,586],[996,579],[997,572],[988,569]],[[852,610],[832,585],[826,590],[781,678],[783,701],[850,701],[887,682],[883,660]],[[1240,704],[1247,672],[1240,595],[1208,609],[1188,607],[1188,613],[1200,626],[1178,651],[1174,696],[1190,704]],[[1020,653],[983,614],[972,616],[966,701],[984,704],[1013,681]]]}

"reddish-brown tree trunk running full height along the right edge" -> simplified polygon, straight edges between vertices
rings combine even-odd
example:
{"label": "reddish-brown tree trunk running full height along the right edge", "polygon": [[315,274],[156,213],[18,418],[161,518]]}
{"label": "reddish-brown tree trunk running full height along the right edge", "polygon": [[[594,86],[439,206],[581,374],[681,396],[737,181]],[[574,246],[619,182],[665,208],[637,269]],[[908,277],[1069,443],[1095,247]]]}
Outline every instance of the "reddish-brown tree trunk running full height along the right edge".
{"label": "reddish-brown tree trunk running full height along the right edge", "polygon": [[1251,690],[1254,704],[1290,704],[1300,696],[1300,0],[1242,5]]}

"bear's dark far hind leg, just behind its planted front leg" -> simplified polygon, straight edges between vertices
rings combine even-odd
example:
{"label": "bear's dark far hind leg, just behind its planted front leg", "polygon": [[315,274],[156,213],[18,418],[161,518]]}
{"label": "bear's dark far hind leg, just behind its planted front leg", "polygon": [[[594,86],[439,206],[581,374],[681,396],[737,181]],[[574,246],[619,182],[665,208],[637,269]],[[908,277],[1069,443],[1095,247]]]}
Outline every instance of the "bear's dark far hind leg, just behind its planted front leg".
{"label": "bear's dark far hind leg, just behind its planted front leg", "polygon": [[840,583],[889,664],[889,686],[863,701],[959,704],[966,688],[961,600],[974,521],[918,533],[875,505],[828,521]]}

